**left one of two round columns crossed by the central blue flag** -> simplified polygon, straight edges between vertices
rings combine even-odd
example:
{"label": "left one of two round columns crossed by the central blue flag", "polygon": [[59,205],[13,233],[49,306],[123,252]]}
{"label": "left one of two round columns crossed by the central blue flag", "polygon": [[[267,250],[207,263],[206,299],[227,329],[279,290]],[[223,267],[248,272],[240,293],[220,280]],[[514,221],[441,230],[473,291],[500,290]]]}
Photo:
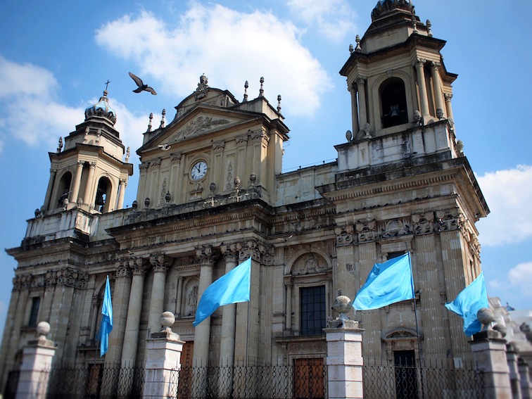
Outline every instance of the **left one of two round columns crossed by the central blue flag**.
{"label": "left one of two round columns crossed by the central blue flag", "polygon": [[[201,265],[198,286],[198,303],[205,289],[213,283],[213,248],[204,246],[196,249]],[[194,366],[206,366],[209,360],[210,317],[198,324],[194,330]]]}

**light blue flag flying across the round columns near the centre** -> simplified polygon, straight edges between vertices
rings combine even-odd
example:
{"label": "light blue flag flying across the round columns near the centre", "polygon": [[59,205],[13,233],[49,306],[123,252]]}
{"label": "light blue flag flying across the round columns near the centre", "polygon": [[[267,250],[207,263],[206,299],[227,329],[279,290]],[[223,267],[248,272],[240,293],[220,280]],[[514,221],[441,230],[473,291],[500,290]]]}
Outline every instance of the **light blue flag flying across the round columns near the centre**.
{"label": "light blue flag flying across the round columns near the centre", "polygon": [[220,306],[229,305],[229,303],[248,302],[250,289],[251,258],[248,258],[205,289],[196,310],[196,319],[192,325],[196,327]]}

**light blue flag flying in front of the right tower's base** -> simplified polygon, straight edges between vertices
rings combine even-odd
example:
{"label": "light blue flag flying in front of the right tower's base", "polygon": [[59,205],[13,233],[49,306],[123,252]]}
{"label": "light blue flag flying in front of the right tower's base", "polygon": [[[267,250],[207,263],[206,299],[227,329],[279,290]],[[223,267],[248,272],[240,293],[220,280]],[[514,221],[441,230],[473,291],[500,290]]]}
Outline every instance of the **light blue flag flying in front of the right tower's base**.
{"label": "light blue flag flying in front of the right tower's base", "polygon": [[355,310],[379,309],[401,300],[414,298],[410,253],[375,263],[366,283],[358,291]]}

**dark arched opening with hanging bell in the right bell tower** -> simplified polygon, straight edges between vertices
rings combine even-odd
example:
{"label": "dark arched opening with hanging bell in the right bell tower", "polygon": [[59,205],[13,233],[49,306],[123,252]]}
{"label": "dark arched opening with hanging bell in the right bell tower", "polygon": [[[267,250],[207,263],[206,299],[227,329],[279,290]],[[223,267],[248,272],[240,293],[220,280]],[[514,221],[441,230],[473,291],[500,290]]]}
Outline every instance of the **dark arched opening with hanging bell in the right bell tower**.
{"label": "dark arched opening with hanging bell in the right bell tower", "polygon": [[402,125],[408,122],[405,82],[392,77],[381,84],[382,127]]}

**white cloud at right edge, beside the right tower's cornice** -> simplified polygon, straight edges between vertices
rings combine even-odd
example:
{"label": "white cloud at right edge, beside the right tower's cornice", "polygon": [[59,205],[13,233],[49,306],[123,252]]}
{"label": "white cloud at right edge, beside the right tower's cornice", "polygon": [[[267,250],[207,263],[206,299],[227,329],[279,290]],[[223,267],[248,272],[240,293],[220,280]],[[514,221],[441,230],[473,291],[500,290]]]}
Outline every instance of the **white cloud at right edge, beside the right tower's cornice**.
{"label": "white cloud at right edge, beside the right tower's cornice", "polygon": [[477,223],[483,246],[532,238],[532,166],[488,172],[477,177],[491,213]]}

